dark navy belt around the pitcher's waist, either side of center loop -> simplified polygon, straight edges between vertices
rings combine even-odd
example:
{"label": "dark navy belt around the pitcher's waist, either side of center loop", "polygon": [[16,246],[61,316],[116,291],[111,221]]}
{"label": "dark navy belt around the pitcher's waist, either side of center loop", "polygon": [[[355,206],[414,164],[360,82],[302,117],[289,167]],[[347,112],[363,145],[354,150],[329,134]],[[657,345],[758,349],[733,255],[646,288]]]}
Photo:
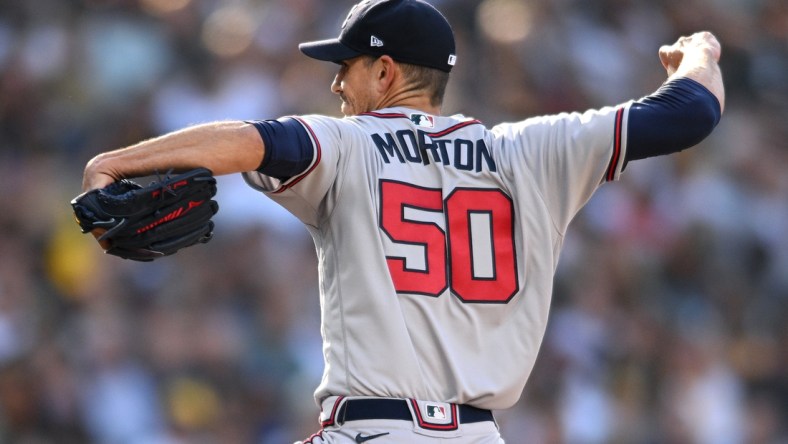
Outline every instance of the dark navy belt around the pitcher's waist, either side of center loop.
{"label": "dark navy belt around the pitcher's waist, either side of center loop", "polygon": [[[465,404],[458,404],[460,424],[494,421],[489,410],[479,409]],[[340,422],[359,421],[362,419],[401,419],[412,421],[413,416],[404,399],[348,399],[339,408],[337,419]]]}

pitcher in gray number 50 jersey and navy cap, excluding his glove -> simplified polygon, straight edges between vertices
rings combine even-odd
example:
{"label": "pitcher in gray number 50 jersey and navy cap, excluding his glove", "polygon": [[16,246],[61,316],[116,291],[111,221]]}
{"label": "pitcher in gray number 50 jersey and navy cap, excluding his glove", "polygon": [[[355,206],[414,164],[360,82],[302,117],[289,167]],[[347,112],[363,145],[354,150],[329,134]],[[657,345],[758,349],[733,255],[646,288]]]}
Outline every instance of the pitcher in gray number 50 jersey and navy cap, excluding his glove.
{"label": "pitcher in gray number 50 jersey and navy cap, excluding his glove", "polygon": [[640,100],[491,128],[441,114],[462,57],[425,2],[365,0],[337,38],[300,49],[337,64],[344,118],[190,127],[97,156],[84,191],[242,172],[306,225],[325,372],[322,428],[304,443],[503,442],[491,410],[528,380],[572,218],[628,162],[711,133],[719,43],[701,32],[660,48],[667,80]]}

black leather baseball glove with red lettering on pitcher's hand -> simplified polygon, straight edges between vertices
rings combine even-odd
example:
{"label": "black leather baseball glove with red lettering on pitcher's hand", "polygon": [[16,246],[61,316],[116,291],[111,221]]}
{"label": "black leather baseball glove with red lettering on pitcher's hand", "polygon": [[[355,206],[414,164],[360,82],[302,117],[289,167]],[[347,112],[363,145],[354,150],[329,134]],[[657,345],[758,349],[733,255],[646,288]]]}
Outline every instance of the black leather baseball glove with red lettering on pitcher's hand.
{"label": "black leather baseball glove with red lettering on pitcher's hand", "polygon": [[210,170],[159,178],[143,187],[123,179],[71,201],[83,233],[96,235],[105,252],[152,261],[213,236],[216,179]]}

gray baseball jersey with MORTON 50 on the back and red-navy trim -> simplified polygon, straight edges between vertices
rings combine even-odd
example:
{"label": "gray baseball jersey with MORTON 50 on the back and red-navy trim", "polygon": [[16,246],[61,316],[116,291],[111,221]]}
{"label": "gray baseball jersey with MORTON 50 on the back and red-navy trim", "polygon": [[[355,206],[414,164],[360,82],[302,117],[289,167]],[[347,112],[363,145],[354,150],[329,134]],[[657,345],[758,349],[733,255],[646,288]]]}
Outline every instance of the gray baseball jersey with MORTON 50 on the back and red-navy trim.
{"label": "gray baseball jersey with MORTON 50 on the back and red-navy trim", "polygon": [[503,409],[544,336],[567,226],[618,178],[629,104],[487,129],[390,108],[302,116],[312,165],[247,182],[310,230],[327,396]]}

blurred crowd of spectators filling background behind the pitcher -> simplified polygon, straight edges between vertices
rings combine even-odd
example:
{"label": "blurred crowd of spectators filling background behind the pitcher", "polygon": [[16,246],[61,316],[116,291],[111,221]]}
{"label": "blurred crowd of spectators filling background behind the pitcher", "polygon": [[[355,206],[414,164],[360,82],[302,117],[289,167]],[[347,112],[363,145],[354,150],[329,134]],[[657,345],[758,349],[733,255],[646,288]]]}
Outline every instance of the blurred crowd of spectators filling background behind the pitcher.
{"label": "blurred crowd of spectators filling background behind the pitcher", "polygon": [[[186,125],[339,115],[331,37],[352,0],[0,2],[0,442],[290,443],[319,428],[314,247],[219,182],[214,239],[103,255],[68,201],[95,154]],[[728,102],[680,154],[629,164],[566,239],[518,443],[788,442],[788,2],[440,0],[444,113],[488,125],[613,105],[710,30]]]}

